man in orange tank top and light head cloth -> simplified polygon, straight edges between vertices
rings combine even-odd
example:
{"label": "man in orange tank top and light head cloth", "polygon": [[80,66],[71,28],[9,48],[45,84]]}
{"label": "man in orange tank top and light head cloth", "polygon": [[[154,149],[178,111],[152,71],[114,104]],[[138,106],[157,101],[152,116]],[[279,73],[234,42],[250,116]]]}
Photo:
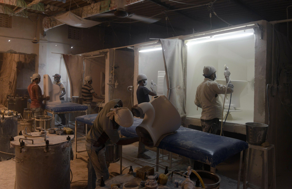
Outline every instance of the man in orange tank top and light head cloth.
{"label": "man in orange tank top and light head cloth", "polygon": [[31,81],[32,83],[28,85],[27,90],[32,100],[30,104],[30,109],[32,110],[32,115],[35,117],[41,115],[41,106],[43,105],[43,100],[50,100],[50,96],[44,97],[41,94],[41,88],[39,87],[39,82],[41,82],[41,76],[39,74],[33,74]]}

